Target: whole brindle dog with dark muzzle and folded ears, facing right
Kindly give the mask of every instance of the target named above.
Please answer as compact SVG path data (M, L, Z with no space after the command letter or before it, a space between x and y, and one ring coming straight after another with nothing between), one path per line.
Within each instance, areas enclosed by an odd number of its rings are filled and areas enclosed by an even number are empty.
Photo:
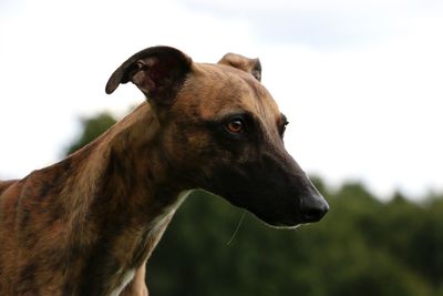
M285 150L257 64L168 47L125 61L106 92L131 81L147 102L63 161L0 182L0 295L147 295L145 263L192 188L274 226L319 221L328 204Z

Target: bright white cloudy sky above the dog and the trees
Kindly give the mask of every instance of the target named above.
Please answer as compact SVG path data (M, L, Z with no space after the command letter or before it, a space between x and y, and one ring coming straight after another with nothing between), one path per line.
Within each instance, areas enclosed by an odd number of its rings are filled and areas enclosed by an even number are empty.
M131 85L111 96L104 85L157 44L200 62L259 57L289 152L329 184L443 190L439 0L2 0L0 177L59 160L80 118L142 102Z

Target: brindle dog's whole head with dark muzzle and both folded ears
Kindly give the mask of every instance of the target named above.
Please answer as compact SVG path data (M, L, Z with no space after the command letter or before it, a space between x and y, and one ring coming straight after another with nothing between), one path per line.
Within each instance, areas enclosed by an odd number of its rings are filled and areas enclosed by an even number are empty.
M288 121L258 81L261 67L244 67L258 60L229 57L236 62L204 64L148 48L112 74L106 92L131 81L146 95L165 159L187 188L220 195L274 226L319 221L329 206L285 150Z

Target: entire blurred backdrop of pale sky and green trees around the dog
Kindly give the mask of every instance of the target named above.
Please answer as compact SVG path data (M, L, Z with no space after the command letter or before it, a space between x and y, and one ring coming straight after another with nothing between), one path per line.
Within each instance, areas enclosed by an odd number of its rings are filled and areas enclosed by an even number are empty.
M141 49L259 57L286 146L331 211L276 231L196 192L150 262L152 295L443 295L442 32L437 0L1 0L0 178L142 102L104 93Z

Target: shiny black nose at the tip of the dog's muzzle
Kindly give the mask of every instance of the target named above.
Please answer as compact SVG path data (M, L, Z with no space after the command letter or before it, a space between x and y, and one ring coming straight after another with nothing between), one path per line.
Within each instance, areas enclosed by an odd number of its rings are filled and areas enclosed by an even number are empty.
M303 196L300 201L300 213L303 223L318 222L328 211L328 202L319 193Z

